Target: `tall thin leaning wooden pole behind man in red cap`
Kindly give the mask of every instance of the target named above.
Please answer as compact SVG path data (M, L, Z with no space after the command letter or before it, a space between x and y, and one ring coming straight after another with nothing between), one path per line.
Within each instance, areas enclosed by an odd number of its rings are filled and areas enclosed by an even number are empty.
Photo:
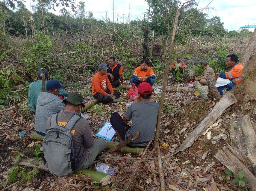
M157 127L156 127L156 134L155 134L155 139L154 139L154 150L156 150L157 145L158 145L158 140L159 140L159 130L160 130L160 123L161 123L161 117L162 117L162 111L163 111L163 103L164 103L164 97L165 97L165 91L166 91L166 84L168 80L168 75L169 75L169 70L171 68L171 56L172 56L172 49L174 47L174 38L175 38L175 33L176 33L176 27L178 24L178 18L179 18L180 12L177 10L176 15L175 15L175 20L173 23L173 28L172 28L172 40L169 42L169 53L166 59L166 68L165 68L165 74L163 78L163 88L162 88L162 93L160 97L160 103L159 103L159 108L158 108L158 114L157 114Z

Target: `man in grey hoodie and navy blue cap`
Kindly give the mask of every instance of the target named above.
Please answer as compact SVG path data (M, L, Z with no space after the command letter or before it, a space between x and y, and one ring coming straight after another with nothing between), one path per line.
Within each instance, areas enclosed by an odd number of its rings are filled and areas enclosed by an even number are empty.
M58 80L51 79L46 83L46 91L40 92L37 99L37 109L35 118L35 130L38 134L45 136L46 122L48 117L65 109L64 103L58 93L61 86Z

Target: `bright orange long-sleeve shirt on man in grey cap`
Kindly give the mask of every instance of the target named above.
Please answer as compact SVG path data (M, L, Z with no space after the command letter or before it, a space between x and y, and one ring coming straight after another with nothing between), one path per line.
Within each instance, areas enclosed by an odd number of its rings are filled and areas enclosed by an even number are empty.
M96 93L107 95L105 92L106 87L108 87L111 93L114 92L107 75L101 75L99 72L95 74L92 79L93 95Z

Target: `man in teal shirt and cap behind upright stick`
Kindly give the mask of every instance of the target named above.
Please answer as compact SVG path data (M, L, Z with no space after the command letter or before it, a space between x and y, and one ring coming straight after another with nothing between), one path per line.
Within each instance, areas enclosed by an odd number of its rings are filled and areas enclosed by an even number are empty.
M44 74L45 79L47 78L47 76L48 76L48 72L45 69L45 74ZM46 87L46 82L47 81L45 81L45 87ZM37 105L37 98L38 98L39 92L42 92L42 68L37 70L37 81L32 82L28 88L28 106L32 113L35 113L35 109L36 109L35 106ZM58 96L61 99L64 99L64 97L67 97L68 94L63 90L60 90L58 93Z

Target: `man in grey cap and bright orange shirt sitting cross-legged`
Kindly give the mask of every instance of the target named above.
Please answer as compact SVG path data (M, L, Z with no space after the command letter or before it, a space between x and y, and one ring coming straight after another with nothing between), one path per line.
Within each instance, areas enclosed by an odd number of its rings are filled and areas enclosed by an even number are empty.
M120 102L123 100L119 98L121 93L113 90L107 77L107 69L106 64L102 63L99 65L99 72L93 76L93 97L102 103ZM106 87L108 87L108 89Z

